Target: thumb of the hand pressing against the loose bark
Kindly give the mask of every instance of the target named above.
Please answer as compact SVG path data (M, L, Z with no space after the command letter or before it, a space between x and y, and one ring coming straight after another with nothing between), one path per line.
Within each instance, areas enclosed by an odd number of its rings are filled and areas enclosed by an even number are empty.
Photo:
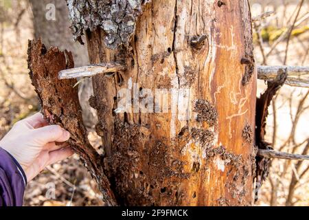
M43 145L49 142L65 142L70 137L70 133L58 125L49 125L34 129L32 135L34 140Z

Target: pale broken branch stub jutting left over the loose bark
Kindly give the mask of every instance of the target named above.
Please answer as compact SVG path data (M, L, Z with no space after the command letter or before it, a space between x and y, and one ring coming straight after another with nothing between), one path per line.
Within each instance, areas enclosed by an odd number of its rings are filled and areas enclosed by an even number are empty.
M97 74L110 74L124 70L126 70L126 66L121 63L100 63L85 67L62 70L59 72L58 78L62 80L69 78L91 77Z

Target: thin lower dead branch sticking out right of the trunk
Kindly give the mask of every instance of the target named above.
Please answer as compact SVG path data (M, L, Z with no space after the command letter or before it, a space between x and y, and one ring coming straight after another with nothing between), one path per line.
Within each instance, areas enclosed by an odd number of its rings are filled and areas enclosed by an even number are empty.
M267 150L267 149L259 149L258 155L260 157L266 157L266 158L309 160L309 155L285 153L285 152Z

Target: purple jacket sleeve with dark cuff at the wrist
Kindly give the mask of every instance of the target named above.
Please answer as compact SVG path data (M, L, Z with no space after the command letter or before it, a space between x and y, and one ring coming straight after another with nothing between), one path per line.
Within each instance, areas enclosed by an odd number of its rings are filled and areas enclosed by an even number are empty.
M26 184L23 168L0 147L0 206L23 206Z

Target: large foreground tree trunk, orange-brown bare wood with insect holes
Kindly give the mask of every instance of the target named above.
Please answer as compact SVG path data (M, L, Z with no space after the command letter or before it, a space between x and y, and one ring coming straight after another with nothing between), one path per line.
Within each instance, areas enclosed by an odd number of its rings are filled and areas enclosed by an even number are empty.
M119 204L251 205L256 72L248 2L153 0L128 45L108 49L106 28L86 35L91 63L127 66L94 76L91 98ZM122 111L124 89L132 106Z

